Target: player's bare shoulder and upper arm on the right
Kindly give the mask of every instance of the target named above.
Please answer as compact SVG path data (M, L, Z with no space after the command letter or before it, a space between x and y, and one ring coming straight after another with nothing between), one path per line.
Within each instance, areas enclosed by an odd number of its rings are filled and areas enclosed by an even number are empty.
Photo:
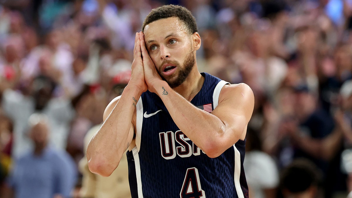
M252 89L245 83L225 85L221 89L219 105L212 114L225 125L225 139L230 145L244 139L253 109L254 95Z

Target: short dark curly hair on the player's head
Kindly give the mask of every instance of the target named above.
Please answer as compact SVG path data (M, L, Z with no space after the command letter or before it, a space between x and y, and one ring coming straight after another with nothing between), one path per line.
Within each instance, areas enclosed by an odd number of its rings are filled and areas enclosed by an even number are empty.
M193 34L194 32L198 32L196 19L194 18L192 13L183 6L171 5L171 4L152 9L152 11L150 11L150 13L146 16L143 22L142 31L144 31L144 28L146 25L154 21L157 21L159 19L165 19L170 17L177 17L178 19L183 21L183 23L186 25L187 30L190 34Z

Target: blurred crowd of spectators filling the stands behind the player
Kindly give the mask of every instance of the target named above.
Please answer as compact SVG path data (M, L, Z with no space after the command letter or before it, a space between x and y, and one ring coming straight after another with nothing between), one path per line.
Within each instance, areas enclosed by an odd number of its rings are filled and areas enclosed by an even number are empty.
M41 141L73 159L70 196L94 197L80 193L87 140L131 77L144 17L164 4L194 14L201 72L253 89L251 197L352 191L352 0L0 2L0 181L15 193L26 185L14 184L16 164L41 145L31 135L40 122L29 122L39 113L49 133Z

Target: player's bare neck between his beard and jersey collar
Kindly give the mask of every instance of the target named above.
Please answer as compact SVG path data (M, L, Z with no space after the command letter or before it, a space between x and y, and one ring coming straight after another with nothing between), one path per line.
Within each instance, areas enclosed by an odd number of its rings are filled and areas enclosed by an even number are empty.
M174 90L182 95L186 100L191 101L200 91L204 83L204 77L199 73L197 65L195 65L187 77L187 79Z

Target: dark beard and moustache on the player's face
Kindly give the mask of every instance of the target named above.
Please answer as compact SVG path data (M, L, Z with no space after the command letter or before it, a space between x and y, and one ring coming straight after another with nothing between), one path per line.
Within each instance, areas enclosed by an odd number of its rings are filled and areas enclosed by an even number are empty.
M183 61L183 67L181 68L180 67L180 63L178 63L177 61L163 61L163 63L160 65L159 67L159 75L161 76L161 78L166 81L169 86L171 88L175 88L175 87L178 87L180 86L186 79L187 77L189 76L189 74L191 73L193 67L194 67L194 64L195 64L196 60L195 60L195 57L194 57L194 53L193 51L191 50L188 54L188 56L186 57L186 59ZM173 78L174 76L176 76L176 79L174 80L167 80L164 78L164 76L162 75L162 66L166 63L171 63L171 64L174 64L178 69L178 74L176 73L173 73L171 75L169 75L168 77Z

